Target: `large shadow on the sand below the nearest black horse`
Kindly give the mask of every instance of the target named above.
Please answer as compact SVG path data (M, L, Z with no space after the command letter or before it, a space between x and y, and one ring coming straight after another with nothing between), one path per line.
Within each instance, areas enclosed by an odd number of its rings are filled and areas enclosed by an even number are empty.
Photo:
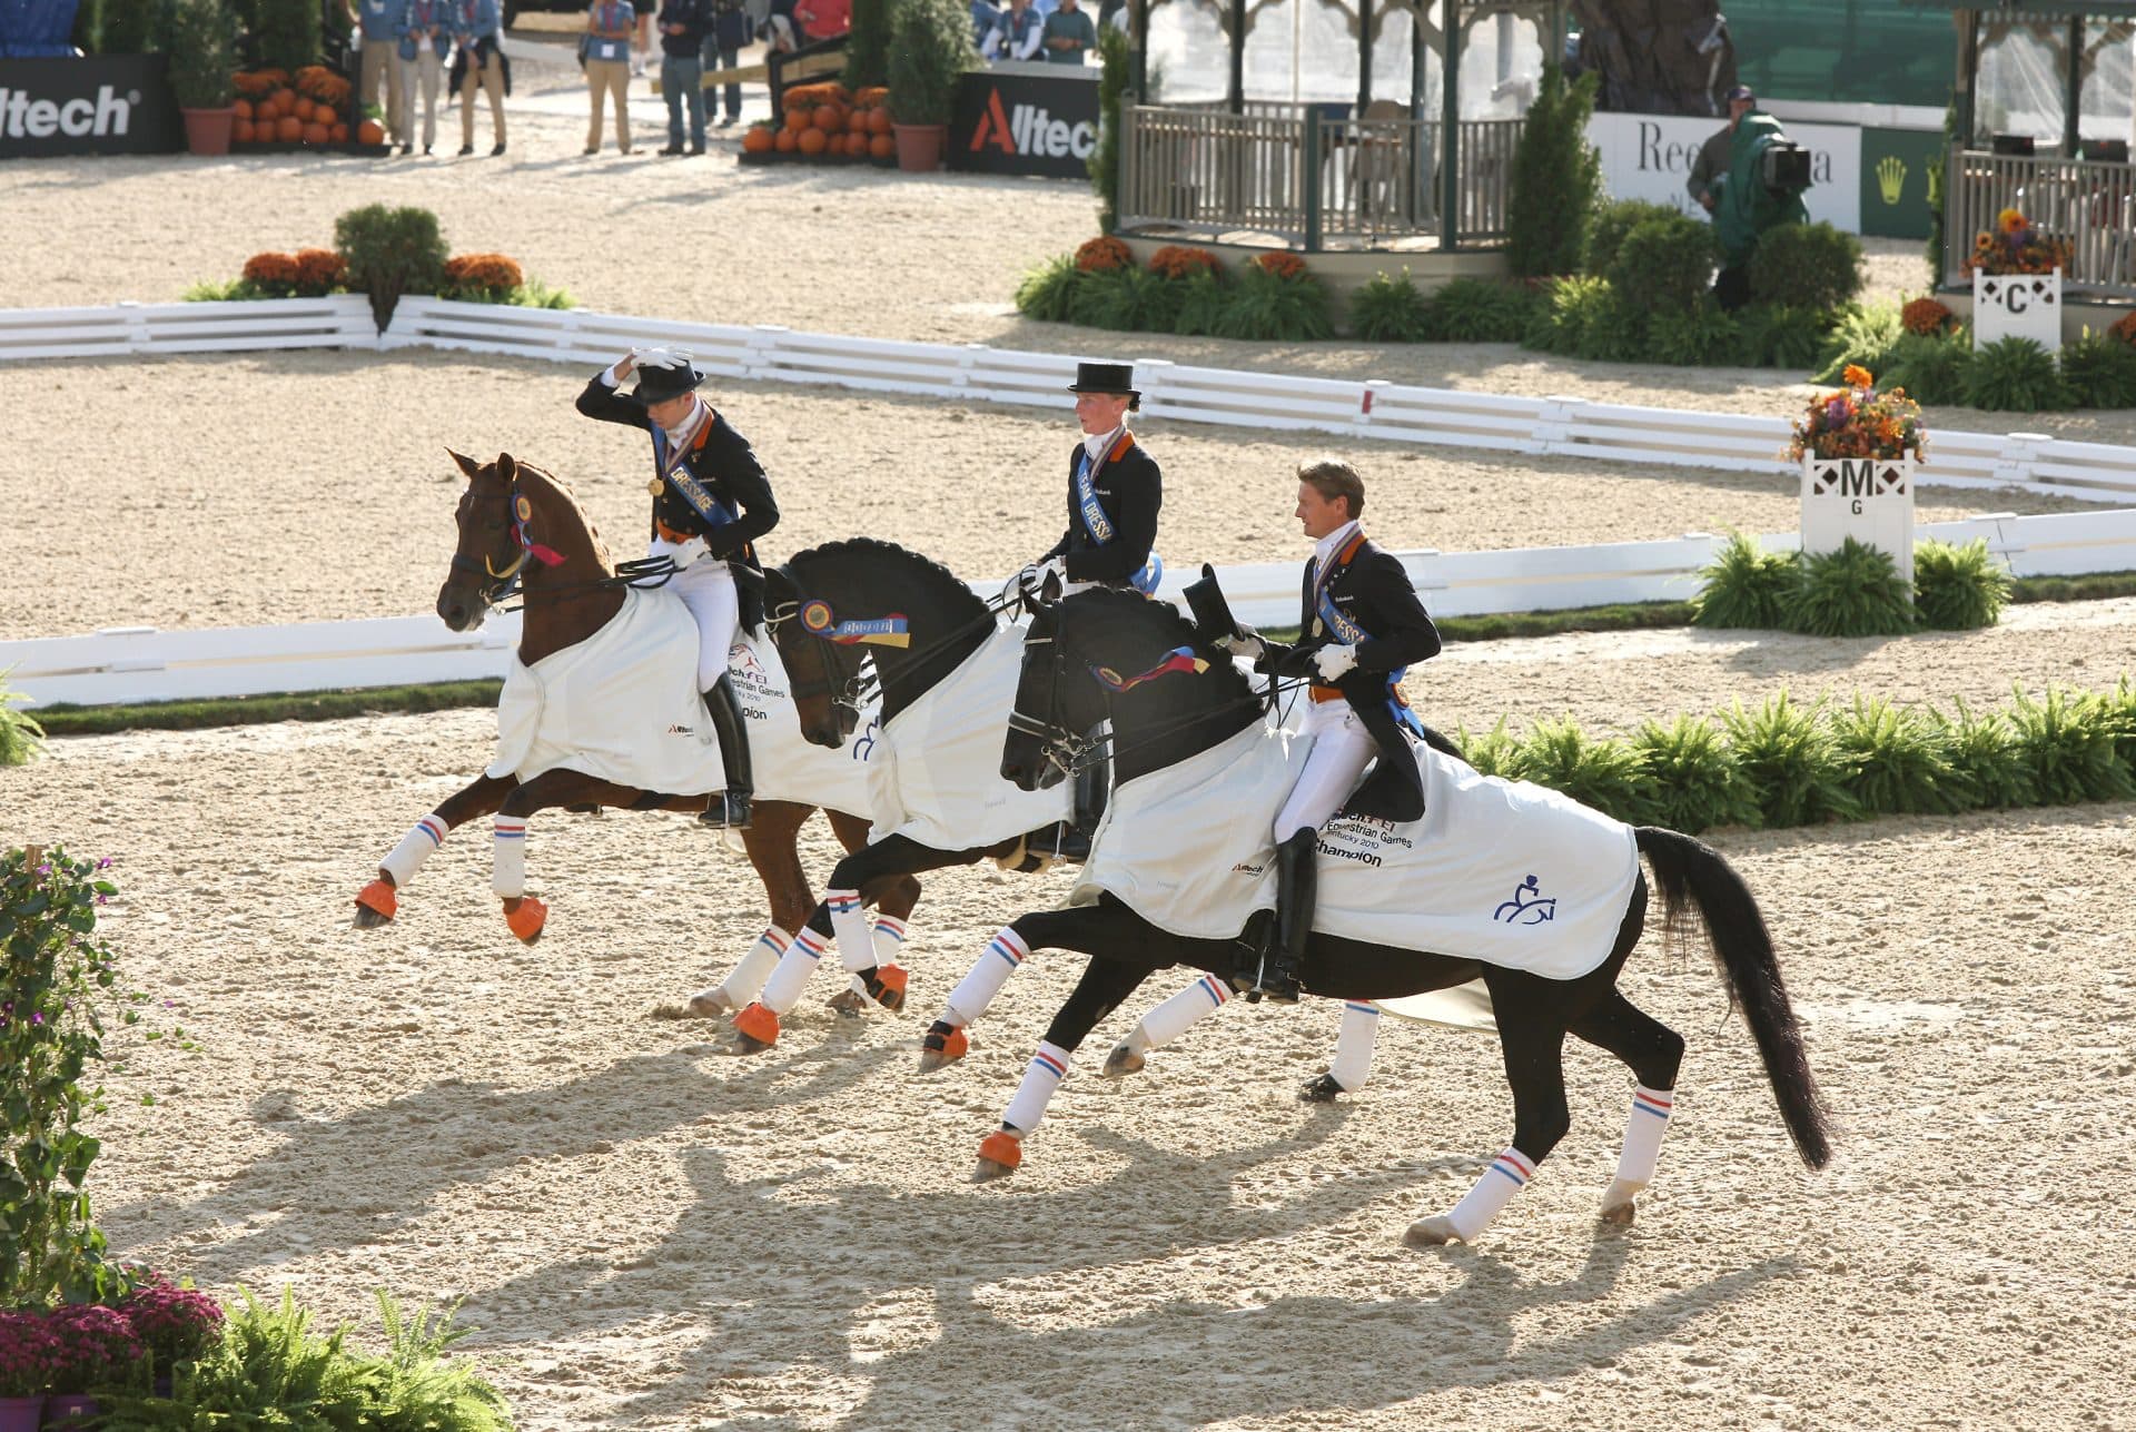
M1241 1176L1309 1152L1346 1118L1318 1109L1301 1129L1209 1156L1104 1126L1059 1131L1051 1137L1081 1137L1121 1167L1096 1184L1055 1188L972 1188L961 1163L944 1165L925 1193L752 1180L703 1146L684 1156L698 1197L660 1246L624 1265L551 1263L470 1297L464 1317L513 1329L521 1347L604 1344L647 1321L673 1329L675 1314L701 1319L692 1347L662 1349L651 1370L662 1381L604 1415L611 1426L724 1417L765 1430L820 1426L820 1406L795 1406L778 1391L797 1374L818 1391L865 1385L839 1417L850 1426L965 1421L974 1398L991 1419L1017 1423L1200 1426L1282 1406L1380 1406L1444 1387L1570 1376L1670 1340L1792 1267L1764 1261L1672 1291L1636 1317L1549 1338L1514 1329L1529 1310L1608 1297L1636 1233L1598 1235L1576 1276L1544 1282L1523 1282L1512 1265L1474 1250L1403 1250L1393 1225L1361 1235L1386 1240L1386 1259L1459 1265L1465 1282L1438 1297L1226 1306L1166 1295L1134 1272L1151 1261L1177 1276L1181 1261L1241 1242L1282 1259L1297 1246L1290 1235L1474 1169L1465 1156L1344 1169L1271 1205L1235 1205ZM1331 1280L1358 1276L1354 1265L1331 1270ZM1034 1329L1004 1314L1004 1285L1070 1310L1072 1325ZM1109 1314L1106 1304L1126 1310ZM564 1381L583 1383L585 1372L572 1368ZM643 1376L632 1368L632 1381ZM540 1413L538 1394L525 1402Z

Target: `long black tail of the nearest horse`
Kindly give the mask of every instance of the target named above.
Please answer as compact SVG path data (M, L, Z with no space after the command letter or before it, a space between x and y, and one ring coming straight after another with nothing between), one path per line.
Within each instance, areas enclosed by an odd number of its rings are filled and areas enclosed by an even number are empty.
M1664 934L1681 934L1692 906L1698 908L1713 962L1728 981L1728 1009L1743 1007L1788 1135L1803 1163L1822 1169L1833 1161L1833 1118L1809 1073L1803 1028L1794 1022L1758 902L1734 866L1702 840L1658 825L1640 825L1636 836L1662 891Z

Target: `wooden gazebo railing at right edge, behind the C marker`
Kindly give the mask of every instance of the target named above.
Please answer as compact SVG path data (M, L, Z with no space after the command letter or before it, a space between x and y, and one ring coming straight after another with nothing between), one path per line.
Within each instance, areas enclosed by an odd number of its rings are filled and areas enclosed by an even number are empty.
M2070 239L2061 282L2136 297L2136 165L1952 150L1946 169L1944 280L1965 282L1976 233L2001 209Z

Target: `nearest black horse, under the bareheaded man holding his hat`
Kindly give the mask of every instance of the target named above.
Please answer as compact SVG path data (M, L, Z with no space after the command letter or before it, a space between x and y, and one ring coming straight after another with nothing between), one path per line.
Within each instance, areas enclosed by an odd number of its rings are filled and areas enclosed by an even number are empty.
M1175 660L1175 654L1188 652L1198 663ZM1162 675L1121 682L1119 673L1128 671ZM1262 701L1247 680L1173 607L1119 592L1081 592L1034 613L1002 774L1025 789L1059 782L1085 754L1087 742L1079 733L1111 720L1115 789L1126 793L1138 776L1205 752L1262 718ZM1831 1120L1756 900L1717 851L1690 836L1640 827L1636 844L1653 868L1664 928L1677 934L1694 908L1702 917L1730 1007L1741 1002L1745 1009L1788 1133L1809 1167L1824 1167L1831 1161ZM1683 1039L1617 990L1617 972L1645 928L1645 908L1647 883L1634 876L1613 949L1576 979L1314 934L1305 962L1309 994L1399 998L1478 975L1491 992L1514 1101L1512 1146L1459 1208L1414 1223L1408 1242L1472 1240L1566 1135L1570 1114L1561 1054L1568 1032L1608 1049L1638 1077L1625 1158L1602 1208L1613 1223L1634 1216L1634 1195L1653 1176L1660 1129L1683 1060ZM1010 930L1027 949L1074 949L1091 962L1047 1030L1051 1049L1040 1047L1025 1088L1010 1105L1021 1122L1006 1120L980 1146L980 1178L1015 1169L1023 1135L1066 1073L1066 1054L1143 979L1168 964L1190 964L1218 977L1239 966L1235 940L1166 934L1111 893L1081 908L1023 915Z

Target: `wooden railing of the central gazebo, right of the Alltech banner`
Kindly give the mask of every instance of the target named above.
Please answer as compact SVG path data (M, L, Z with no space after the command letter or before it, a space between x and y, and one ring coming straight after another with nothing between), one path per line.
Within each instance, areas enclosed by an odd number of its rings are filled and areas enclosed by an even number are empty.
M1440 124L1322 105L1121 107L1121 229L1265 233L1316 250L1442 233ZM1519 120L1461 124L1459 242L1506 237Z

